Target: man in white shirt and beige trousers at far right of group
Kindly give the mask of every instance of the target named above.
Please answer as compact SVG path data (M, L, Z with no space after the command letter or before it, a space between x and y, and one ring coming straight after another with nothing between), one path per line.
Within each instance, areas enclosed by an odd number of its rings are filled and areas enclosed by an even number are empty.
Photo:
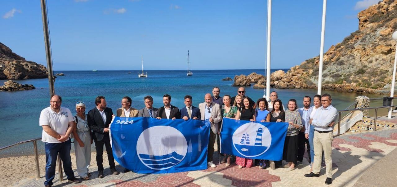
M338 111L331 105L331 95L323 94L321 96L322 106L317 109L316 114L310 124L314 126L314 162L313 171L305 177L320 176L321 158L324 151L326 165L326 184L332 183L332 141L333 141L333 125L331 124L337 117Z

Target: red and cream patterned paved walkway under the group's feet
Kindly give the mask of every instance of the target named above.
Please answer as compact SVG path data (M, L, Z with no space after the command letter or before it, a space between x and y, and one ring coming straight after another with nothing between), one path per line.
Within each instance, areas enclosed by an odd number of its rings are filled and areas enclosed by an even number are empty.
M364 171L375 162L383 158L397 147L397 129L342 135L333 140L333 183L329 186L353 186ZM291 172L284 168L261 170L258 167L239 169L232 164L217 164L217 168L207 170L182 172L174 174L135 174L132 172L119 175L109 175L109 168L105 169L105 177L100 179L97 168L92 167L91 179L82 183L71 185L67 181L60 182L58 175L54 179L54 186L326 186L324 181L325 168L320 172L320 177L304 177L309 172L305 155L303 166L296 167ZM394 166L395 164L393 164ZM122 168L118 166L118 170ZM380 172L387 172L382 171ZM75 172L77 176L77 172ZM23 179L13 186L42 186L44 177ZM376 180L382 180L377 178Z

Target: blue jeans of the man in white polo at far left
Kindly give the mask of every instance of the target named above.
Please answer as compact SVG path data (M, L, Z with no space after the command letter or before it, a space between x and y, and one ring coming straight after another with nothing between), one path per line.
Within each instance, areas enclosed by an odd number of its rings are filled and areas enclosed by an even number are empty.
M72 162L70 158L71 141L62 143L46 143L44 142L44 148L46 150L46 181L44 185L52 185L52 180L55 177L55 164L59 153L61 160L64 165L64 172L67 179L75 179L74 172L72 170Z

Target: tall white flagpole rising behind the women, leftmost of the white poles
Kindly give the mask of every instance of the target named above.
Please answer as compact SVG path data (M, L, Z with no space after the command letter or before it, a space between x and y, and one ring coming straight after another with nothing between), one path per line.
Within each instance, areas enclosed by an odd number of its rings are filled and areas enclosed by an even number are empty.
M267 101L270 101L270 36L272 33L272 0L268 0L268 19L267 19L267 47L266 47L266 98Z

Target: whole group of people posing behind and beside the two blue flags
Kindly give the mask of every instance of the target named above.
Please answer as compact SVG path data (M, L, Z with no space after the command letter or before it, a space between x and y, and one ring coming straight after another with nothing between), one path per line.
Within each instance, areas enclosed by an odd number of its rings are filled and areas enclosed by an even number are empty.
M303 98L303 108L297 108L297 101L290 99L287 109L278 99L276 92L270 93L270 101L265 98L259 98L254 102L250 97L245 95L245 88L240 87L237 95L220 96L220 89L214 87L212 94L207 93L204 96L204 102L193 106L192 96L184 97L184 104L180 110L171 104L171 96L163 96L164 106L160 108L153 107L152 96L143 98L145 107L137 110L131 107L132 100L125 96L121 99L121 108L117 109L118 117L148 117L157 119L183 119L183 120L209 120L211 123L210 137L208 143L208 166L216 168L213 162L214 145L218 136L218 150L220 150L220 137L222 130L220 124L223 118L235 120L260 121L260 122L287 122L287 136L285 138L282 158L288 164L285 165L287 171L292 171L295 166L302 164L305 145L309 154L309 163L311 166L310 174L306 177L318 177L322 162L322 154L326 162L326 184L331 184L331 144L333 121L336 118L337 110L331 105L331 96L324 94L315 95L313 98L314 106L310 106L312 100L310 96ZM104 177L103 167L103 148L106 148L111 174L118 175L116 170L112 147L110 146L109 125L114 116L112 109L106 107L104 96L95 98L96 107L85 114L85 104L82 101L76 103L77 114L73 116L68 108L61 107L62 98L59 95L51 97L50 106L41 111L39 124L42 126L42 141L45 144L46 152L46 181L44 185L52 186L52 180L55 175L56 158L59 153L63 162L64 171L67 179L72 183L80 181L74 176L71 169L71 140L69 136L73 135L74 147L76 153L77 173L83 180L90 179L89 165L91 162L91 144L95 143L96 164L98 166L98 177ZM258 108L257 108L258 107ZM221 151L222 152L222 151ZM232 155L222 154L221 163L226 166L231 164ZM256 162L255 162L256 161ZM235 163L239 168L250 168L255 164L260 168L279 168L282 165L281 160L252 160L235 156ZM127 168L124 172L129 172Z

